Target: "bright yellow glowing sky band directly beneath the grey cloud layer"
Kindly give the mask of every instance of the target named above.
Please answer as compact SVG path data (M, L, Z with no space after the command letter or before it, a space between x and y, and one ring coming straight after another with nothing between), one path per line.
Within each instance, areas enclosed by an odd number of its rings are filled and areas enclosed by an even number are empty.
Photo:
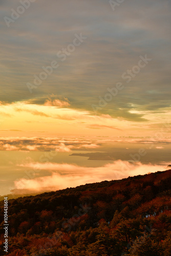
M160 119L159 113L152 115L150 112L145 112L144 117L147 121L142 125L141 122L116 119L110 115L95 115L90 111L75 110L67 99L59 100L55 97L48 98L42 105L26 102L3 103L0 105L0 114L1 112L4 113L4 119L0 130L5 137L13 137L14 134L18 137L39 136L40 131L45 133L44 137L52 137L56 134L151 136L154 134L154 129L158 132L162 129L164 136L171 132L167 121L171 111L162 113ZM150 120L151 116L153 116L152 120Z

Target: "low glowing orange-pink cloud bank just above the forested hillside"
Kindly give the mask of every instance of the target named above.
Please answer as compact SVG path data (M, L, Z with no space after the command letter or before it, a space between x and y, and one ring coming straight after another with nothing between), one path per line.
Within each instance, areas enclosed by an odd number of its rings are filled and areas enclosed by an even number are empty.
M115 161L111 164L105 164L101 167L83 167L74 164L57 164L57 163L27 163L20 166L30 167L33 170L49 170L52 172L50 176L26 179L22 178L15 181L15 189L13 193L41 193L43 191L51 191L63 189L67 187L75 187L80 184L101 182L104 180L118 180L135 175L144 175L149 172L154 173L164 170L165 165L152 164L131 164L126 161Z

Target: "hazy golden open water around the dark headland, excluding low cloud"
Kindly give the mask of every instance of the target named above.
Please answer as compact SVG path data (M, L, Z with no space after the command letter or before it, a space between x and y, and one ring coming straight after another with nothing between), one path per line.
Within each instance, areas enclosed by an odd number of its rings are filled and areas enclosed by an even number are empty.
M118 147L117 147L118 145ZM131 156L137 157L139 154L139 149L143 147L143 144L134 144L127 143L124 147L123 144L115 144L114 147L103 148L101 152L112 152L115 156L115 160L121 159L122 161L134 161ZM163 144L162 149L157 148L158 145L155 145L154 148L145 149L146 154L140 157L140 161L143 164L158 164L158 165L167 165L171 163L170 157L170 145ZM145 148L145 147L144 147ZM100 150L99 150L100 151ZM98 148L92 151L70 151L70 152L58 152L54 157L50 156L49 162L51 163L67 163L67 164L76 164L78 166L85 167L100 167L106 163L113 163L111 160L88 160L89 157L83 156L70 156L71 154L86 154L86 153L95 153L99 152ZM9 194L11 189L14 189L14 181L21 179L26 176L26 172L32 170L31 167L22 167L26 163L44 163L41 160L45 161L47 159L46 154L49 152L21 152L21 151L0 151L0 195ZM53 154L54 155L54 154ZM138 158L137 158L138 159ZM165 168L165 169L166 169ZM36 177L45 177L49 176L50 172L48 170L40 170Z

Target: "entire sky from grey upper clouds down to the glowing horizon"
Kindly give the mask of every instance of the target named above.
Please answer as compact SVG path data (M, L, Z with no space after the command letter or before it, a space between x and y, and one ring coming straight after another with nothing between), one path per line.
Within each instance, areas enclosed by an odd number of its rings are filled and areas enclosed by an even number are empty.
M169 161L170 9L170 0L2 0L0 150L155 143Z

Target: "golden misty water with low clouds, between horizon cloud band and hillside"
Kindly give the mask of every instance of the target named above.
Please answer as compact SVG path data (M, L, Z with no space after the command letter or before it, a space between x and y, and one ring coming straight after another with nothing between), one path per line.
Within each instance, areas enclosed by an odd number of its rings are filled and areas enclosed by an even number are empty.
M87 151L0 151L0 195L41 193L167 169L169 144L118 143ZM73 155L74 154L74 155ZM76 156L75 156L76 154ZM91 160L90 160L91 159ZM21 185L22 184L22 185Z

